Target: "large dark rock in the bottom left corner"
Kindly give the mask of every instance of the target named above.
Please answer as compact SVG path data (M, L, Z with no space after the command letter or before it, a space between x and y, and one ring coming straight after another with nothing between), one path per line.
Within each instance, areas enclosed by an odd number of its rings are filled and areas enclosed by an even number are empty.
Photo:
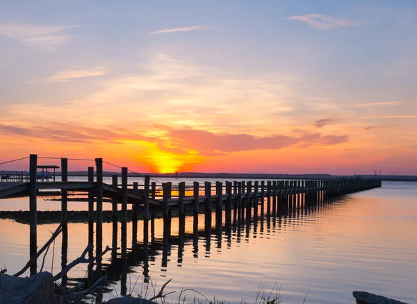
M0 303L55 303L54 278L49 272L40 272L29 278L0 274Z

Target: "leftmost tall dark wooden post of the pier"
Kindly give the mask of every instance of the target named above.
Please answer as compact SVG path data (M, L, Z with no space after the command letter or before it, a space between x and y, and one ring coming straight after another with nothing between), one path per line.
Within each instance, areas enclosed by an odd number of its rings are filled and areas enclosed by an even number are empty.
M29 210L30 210L30 217L29 217L29 255L33 257L36 255L37 252L37 242L38 242L38 233L37 233L37 225L38 225L38 217L37 217L37 206L36 206L36 196L37 196L37 167L38 167L38 155L31 154L29 156ZM36 262L31 266L31 276L37 273L37 264Z

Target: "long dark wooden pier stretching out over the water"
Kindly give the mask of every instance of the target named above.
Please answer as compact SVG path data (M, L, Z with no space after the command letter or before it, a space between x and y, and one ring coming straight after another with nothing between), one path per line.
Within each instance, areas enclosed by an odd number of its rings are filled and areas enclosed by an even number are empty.
M185 210L193 210L193 226L198 233L199 213L204 212L204 221L207 229L211 229L211 216L215 210L216 230L222 231L224 225L241 222L246 219L257 220L258 217L281 217L286 212L291 212L301 205L311 206L320 203L323 199L338 197L352 192L381 187L381 180L365 180L361 178L338 178L334 180L261 180L261 181L217 181L192 185L181 182L177 186L172 183L157 185L149 176L145 176L144 185L128 183L128 169L122 167L122 185L117 185L117 176L113 176L112 184L103 182L103 160L95 159L95 168L88 167L88 181L68 181L68 159L61 159L60 182L40 182L37 176L38 155L30 155L29 179L27 183L19 183L0 189L0 198L13 195L29 196L30 211L30 257L37 251L37 195L40 189L61 190L61 221L63 225L63 251L67 246L67 192L83 192L88 194L88 226L92 230L96 223L96 255L101 256L102 223L103 223L103 199L111 199L113 205L113 223L117 227L120 221L122 226L122 248L126 248L126 221L128 204L132 205L133 212L133 235L137 236L138 213L143 212L144 246L148 246L149 221L151 223L151 235L154 235L154 220L156 210L163 214L163 235L170 235L172 210L177 209L179 214L180 230L184 225ZM131 188L130 188L131 187ZM161 195L162 194L162 195ZM162 196L162 197L161 197ZM158 199L157 199L158 197ZM160 199L161 197L161 199ZM94 204L96 205L96 217L93 217ZM122 205L121 217L117 217L117 205ZM261 210L259 212L259 205ZM223 212L225 212L223 221ZM233 217L232 217L233 214ZM117 232L116 232L117 235ZM93 244L92 235L88 243ZM124 240L124 242L123 242ZM113 246L114 247L114 246ZM116 245L117 247L117 245ZM114 249L114 248L113 248ZM91 253L92 254L92 253ZM122 260L126 260L126 250L122 250ZM97 259L97 270L101 272L101 259ZM63 267L66 260L63 259ZM31 275L37 273L37 266L31 267Z

